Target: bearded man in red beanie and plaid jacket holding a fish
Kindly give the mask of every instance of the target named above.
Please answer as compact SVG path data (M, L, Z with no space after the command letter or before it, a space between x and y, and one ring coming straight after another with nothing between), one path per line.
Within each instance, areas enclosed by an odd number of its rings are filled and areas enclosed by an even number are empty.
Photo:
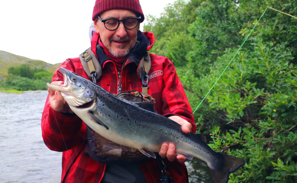
M97 85L111 93L141 91L138 76L140 61L154 44L154 35L139 31L144 15L139 0L96 0L92 20L96 33L91 50L102 67ZM156 99L155 109L182 126L184 133L195 132L196 126L189 102L170 60L149 54L148 94ZM79 58L61 64L85 78L88 75ZM62 84L63 75L56 71L52 84ZM86 125L69 109L59 91L48 89L42 114L42 137L47 147L63 152L61 182L160 182L158 160L141 163L104 164L93 160L86 149ZM159 150L173 182L187 182L186 158L176 156L174 144L164 142Z

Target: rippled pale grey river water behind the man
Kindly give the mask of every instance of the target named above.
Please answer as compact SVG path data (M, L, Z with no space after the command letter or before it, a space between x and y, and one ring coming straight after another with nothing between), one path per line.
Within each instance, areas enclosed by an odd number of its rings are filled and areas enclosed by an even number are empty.
M41 115L48 91L0 93L0 182L61 181L62 153L48 149L42 139ZM189 181L213 182L204 162L186 162Z

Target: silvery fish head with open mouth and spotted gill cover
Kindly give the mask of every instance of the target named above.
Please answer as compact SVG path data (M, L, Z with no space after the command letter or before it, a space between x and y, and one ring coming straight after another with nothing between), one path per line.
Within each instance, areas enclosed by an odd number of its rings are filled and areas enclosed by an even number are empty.
M62 97L70 107L82 106L94 99L94 91L86 85L83 77L62 67L58 70L64 76L64 84L55 85L47 83L46 85L50 89L60 91Z

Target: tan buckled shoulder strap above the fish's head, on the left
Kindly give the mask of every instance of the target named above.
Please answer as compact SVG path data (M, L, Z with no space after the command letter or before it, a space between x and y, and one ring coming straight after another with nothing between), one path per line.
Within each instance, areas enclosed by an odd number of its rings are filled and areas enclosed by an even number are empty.
M83 66L83 70L96 84L97 79L99 79L102 75L102 68L96 55L92 52L91 47L80 54L79 59L81 65Z

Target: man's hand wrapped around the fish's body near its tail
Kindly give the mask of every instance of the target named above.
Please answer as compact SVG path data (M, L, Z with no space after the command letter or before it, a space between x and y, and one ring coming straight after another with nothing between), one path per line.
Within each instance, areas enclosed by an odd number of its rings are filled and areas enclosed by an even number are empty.
M177 122L178 124L181 125L181 130L188 134L190 133L191 129L192 129L192 124L189 123L187 120L184 120L183 118L179 117L179 116L170 116L168 117L169 119ZM175 158L179 161L179 162L185 162L187 160L186 157L184 157L183 155L178 155L176 157L175 154L175 145L174 144L168 144L168 143L163 143L160 151L159 151L159 155L162 158L167 157L167 159L169 161L173 161L175 160Z

